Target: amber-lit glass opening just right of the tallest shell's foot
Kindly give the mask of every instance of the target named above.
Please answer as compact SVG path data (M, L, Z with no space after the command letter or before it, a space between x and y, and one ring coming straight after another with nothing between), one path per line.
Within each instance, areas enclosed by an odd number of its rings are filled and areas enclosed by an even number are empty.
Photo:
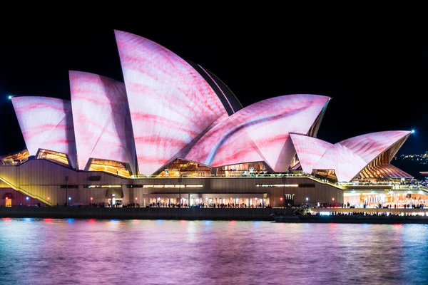
M179 158L168 165L168 167L166 167L158 177L178 177L180 175L193 177L209 176L211 175L211 167Z

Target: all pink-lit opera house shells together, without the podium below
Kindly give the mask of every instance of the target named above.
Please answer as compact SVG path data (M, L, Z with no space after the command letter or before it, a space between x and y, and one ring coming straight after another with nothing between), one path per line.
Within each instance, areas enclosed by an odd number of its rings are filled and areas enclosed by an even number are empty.
M407 131L331 144L316 138L329 97L282 95L243 108L202 66L141 36L115 35L123 83L70 71L71 100L11 98L26 155L122 178L293 171L335 182L411 177L389 164Z

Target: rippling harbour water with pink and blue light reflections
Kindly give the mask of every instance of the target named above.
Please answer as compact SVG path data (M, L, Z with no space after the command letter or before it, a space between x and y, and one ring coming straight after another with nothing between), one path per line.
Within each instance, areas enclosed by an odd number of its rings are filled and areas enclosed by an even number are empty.
M0 219L0 284L428 284L428 225Z

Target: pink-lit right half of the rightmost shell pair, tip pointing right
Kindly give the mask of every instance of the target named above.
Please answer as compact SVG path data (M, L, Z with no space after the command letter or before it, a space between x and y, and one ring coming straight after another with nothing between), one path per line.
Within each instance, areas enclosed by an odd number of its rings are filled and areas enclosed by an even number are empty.
M410 132L407 130L385 131L359 135L355 138L342 140L339 143L350 148L355 154L359 155L362 160L369 163L395 142L409 135Z

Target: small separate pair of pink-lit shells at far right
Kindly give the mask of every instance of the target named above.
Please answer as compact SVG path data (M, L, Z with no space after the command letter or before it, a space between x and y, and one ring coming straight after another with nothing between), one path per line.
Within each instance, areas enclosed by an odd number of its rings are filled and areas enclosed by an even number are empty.
M339 182L350 182L372 160L396 143L404 142L409 134L409 131L402 130L370 133L335 145L302 135L291 134L291 137L305 173L335 170Z

